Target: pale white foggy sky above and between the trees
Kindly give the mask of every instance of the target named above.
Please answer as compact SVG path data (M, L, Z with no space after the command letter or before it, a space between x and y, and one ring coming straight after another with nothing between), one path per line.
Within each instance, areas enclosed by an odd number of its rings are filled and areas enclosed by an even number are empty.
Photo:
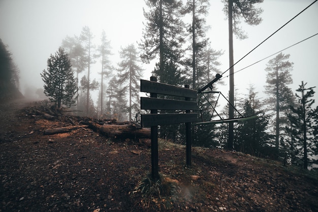
M241 25L247 32L248 39L234 41L234 61L238 61L251 49L265 40L271 33L293 18L314 0L265 0L260 4L264 9L263 22L258 26ZM222 72L228 69L228 21L222 12L220 0L210 1L210 14L207 22L211 29L207 32L212 48L225 50L219 58ZM47 59L54 54L66 36L79 36L82 27L87 25L92 30L95 43L99 43L101 32L105 29L111 41L113 65L118 61L120 47L136 44L142 37L143 0L0 0L0 39L9 46L14 61L21 71L21 90L27 85L43 87L40 73L47 68ZM239 62L234 70L239 70L263 59L281 49L293 45L315 33L318 33L318 2L298 16L290 24L277 32L266 43ZM283 51L290 54L289 61L294 62L291 73L295 90L301 81L307 87L318 86L318 36L295 47ZM274 57L274 56L273 56ZM264 96L266 82L266 63L268 58L256 65L242 70L234 76L235 86L245 93L248 85L256 86L259 96ZM153 67L144 64L144 79L149 79ZM100 71L99 60L91 69L92 75ZM228 76L227 72L224 77ZM100 81L99 76L96 76ZM227 95L228 78L223 79L226 87L220 90ZM318 88L315 99L318 99ZM23 92L23 91L22 91ZM97 99L95 99L97 100Z

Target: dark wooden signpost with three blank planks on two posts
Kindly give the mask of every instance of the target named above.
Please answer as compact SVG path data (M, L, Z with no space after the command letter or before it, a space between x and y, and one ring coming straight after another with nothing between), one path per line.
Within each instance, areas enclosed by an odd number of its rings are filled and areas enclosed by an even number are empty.
M191 122L198 121L197 91L156 82L155 77L150 81L140 80L140 91L150 93L149 97L141 97L141 110L150 110L150 114L141 115L141 125L151 127L151 177L159 179L158 170L158 125L185 123L186 164L191 165ZM157 98L157 94L183 97L184 100ZM178 113L158 113L158 110L173 110ZM182 111L181 113L179 113Z

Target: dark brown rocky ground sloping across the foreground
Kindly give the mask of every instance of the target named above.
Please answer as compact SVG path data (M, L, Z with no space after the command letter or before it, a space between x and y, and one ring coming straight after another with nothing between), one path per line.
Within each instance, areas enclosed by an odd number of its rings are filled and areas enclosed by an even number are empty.
M137 189L151 169L147 140L114 140L87 128L28 116L35 102L0 104L0 211L318 211L318 181L279 162L160 141L169 196ZM297 170L297 169L293 169Z

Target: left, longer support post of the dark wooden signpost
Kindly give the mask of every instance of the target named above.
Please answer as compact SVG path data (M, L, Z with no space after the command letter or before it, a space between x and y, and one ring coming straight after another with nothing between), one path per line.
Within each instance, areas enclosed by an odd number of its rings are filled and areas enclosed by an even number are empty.
M150 81L157 82L156 77L150 77ZM151 98L157 98L156 93L150 93ZM157 114L158 110L150 110L150 114ZM158 165L158 126L151 126L151 178L159 179Z

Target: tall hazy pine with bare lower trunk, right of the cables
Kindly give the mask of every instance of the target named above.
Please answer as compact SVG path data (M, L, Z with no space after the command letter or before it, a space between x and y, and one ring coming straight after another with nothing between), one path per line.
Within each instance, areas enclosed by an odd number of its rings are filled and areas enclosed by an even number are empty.
M290 72L293 70L293 63L289 62L290 55L278 54L275 58L269 60L266 71L266 83L265 93L269 94L267 99L270 105L270 110L276 113L275 118L275 148L276 155L279 155L279 140L280 133L283 124L282 117L285 112L289 109L289 105L293 104L293 92L288 87L289 84L293 83ZM285 123L286 124L286 123Z

